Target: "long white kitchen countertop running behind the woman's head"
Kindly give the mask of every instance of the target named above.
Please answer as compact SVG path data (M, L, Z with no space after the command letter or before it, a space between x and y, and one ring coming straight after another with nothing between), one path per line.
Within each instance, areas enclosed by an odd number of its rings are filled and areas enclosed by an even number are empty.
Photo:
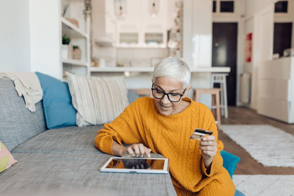
M153 72L154 67L90 67L91 72ZM230 67L191 68L193 73L229 73Z

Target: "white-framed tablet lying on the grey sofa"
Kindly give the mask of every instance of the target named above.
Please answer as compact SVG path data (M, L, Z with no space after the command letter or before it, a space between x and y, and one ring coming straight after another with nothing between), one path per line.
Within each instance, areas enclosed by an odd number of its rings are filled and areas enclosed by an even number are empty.
M169 160L166 158L111 157L99 171L166 174L168 169Z

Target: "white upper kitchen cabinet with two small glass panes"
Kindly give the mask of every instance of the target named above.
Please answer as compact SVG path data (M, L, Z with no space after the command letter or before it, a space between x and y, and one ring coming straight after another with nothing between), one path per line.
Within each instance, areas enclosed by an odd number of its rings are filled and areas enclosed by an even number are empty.
M152 17L149 12L150 2L126 0L126 16L116 20L117 47L166 48L168 1L159 1L159 12L155 17ZM106 7L106 13L110 12Z

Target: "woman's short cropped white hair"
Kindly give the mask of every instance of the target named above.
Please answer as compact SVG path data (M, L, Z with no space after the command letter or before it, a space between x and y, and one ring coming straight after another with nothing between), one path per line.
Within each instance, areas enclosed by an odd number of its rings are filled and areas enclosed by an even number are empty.
M168 57L161 60L154 68L153 83L158 77L175 78L182 82L183 87L187 88L191 78L191 70L188 64L180 58Z

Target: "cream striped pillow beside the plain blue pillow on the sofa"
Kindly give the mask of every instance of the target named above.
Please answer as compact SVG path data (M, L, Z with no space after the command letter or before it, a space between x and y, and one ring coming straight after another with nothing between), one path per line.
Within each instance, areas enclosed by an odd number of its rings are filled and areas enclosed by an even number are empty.
M79 127L110 123L128 105L123 76L88 77L67 73Z

